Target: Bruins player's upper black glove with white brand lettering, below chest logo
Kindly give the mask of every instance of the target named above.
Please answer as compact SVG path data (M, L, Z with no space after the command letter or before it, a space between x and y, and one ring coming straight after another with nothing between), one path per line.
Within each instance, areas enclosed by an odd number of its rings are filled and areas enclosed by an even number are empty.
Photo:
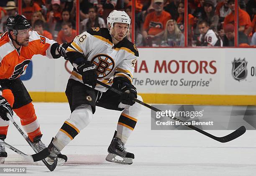
M92 89L95 88L97 84L97 73L94 64L91 61L86 61L79 66L77 66L77 71L82 74L82 79L84 84L92 86Z

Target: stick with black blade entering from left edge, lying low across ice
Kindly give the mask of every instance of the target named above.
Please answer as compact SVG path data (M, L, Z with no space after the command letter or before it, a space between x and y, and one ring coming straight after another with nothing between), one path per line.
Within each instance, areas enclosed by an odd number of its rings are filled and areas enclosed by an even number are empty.
M17 148L13 147L12 145L6 143L3 140L0 140L0 143L2 143L2 145L5 145L5 147L13 150L15 153L18 153L19 155L23 156L23 158L25 158L27 161L36 162L36 161L40 161L40 160L46 158L47 156L49 156L49 150L42 150L39 153L36 153L33 155L27 155L27 154L23 153L22 151L18 150Z

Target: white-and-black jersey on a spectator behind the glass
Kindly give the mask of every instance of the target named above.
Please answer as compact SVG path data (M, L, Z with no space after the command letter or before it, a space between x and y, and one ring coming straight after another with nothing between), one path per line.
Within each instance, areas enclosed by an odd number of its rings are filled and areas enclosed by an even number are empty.
M209 29L205 35L200 34L199 41L201 46L223 46L223 42L212 29Z

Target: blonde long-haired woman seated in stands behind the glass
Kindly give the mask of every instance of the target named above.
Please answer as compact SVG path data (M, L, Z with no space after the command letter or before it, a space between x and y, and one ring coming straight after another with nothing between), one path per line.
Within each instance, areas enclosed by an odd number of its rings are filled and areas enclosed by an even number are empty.
M162 41L168 46L184 46L184 35L175 20L168 20Z

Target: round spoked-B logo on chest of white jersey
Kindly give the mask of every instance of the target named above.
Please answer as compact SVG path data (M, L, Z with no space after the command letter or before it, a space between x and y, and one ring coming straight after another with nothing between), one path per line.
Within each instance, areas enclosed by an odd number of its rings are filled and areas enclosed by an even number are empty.
M106 54L98 54L92 58L92 63L96 65L96 71L99 79L102 79L114 69L114 60Z

